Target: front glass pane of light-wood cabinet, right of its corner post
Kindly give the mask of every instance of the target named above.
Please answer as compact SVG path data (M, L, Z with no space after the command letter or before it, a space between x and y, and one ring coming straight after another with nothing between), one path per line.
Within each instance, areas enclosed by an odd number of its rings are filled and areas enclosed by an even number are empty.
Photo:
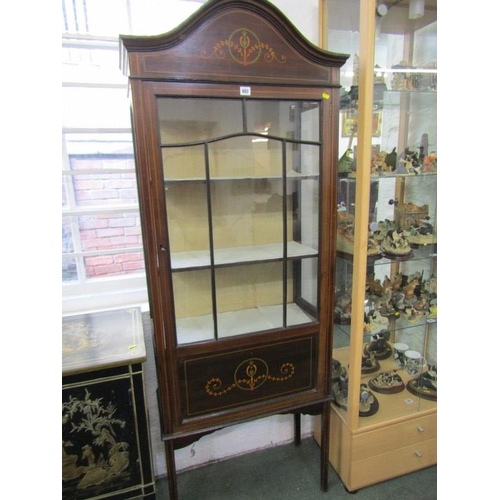
M372 193L384 258L368 277L367 298L374 300L367 327L388 334L388 366L398 370L411 394L390 412L381 408L381 419L435 408L437 400L436 10L427 6L425 18L405 30L411 21L406 7L400 9L404 22L395 23L397 11L390 9L376 40L374 102L382 116L372 143L379 148L376 163L389 165L390 172L377 167L373 173L392 178L380 179L378 193ZM379 284L388 298L374 293Z

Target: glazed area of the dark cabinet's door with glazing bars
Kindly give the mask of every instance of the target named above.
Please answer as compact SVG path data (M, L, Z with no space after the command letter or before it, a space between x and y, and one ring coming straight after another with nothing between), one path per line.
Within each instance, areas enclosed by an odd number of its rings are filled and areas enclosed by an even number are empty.
M177 344L317 322L320 105L157 99Z

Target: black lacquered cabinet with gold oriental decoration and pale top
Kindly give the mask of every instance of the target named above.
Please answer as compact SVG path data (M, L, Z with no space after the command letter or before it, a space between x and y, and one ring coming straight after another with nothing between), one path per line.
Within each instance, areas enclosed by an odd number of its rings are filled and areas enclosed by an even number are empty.
M63 316L62 498L154 500L140 308Z

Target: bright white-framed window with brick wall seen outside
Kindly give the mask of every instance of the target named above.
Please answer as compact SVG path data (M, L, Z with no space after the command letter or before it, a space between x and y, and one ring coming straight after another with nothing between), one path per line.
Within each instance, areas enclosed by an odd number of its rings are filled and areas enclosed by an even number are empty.
M118 36L169 31L203 1L62 1L63 313L147 301Z

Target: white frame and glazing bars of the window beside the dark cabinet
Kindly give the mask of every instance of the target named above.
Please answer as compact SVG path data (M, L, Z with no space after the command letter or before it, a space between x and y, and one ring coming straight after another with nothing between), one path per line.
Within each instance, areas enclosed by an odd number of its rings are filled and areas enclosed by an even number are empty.
M186 7L183 10L194 11L199 6L204 3L205 0L182 0L179 3L181 6L184 3L192 3L192 7ZM197 5L198 4L198 5ZM66 7L66 10L65 10ZM68 7L70 8L68 10ZM95 7L95 6L94 6ZM127 92L128 89L128 78L119 72L119 33L113 33L112 36L107 34L96 35L92 33L92 15L95 11L92 5L87 5L86 0L82 0L77 3L65 3L63 2L63 26L62 26L62 49L63 51L71 51L71 49L76 49L74 54L68 52L67 60L64 60L63 53L63 78L62 87L63 90L66 88L76 88L76 89L103 89L103 90L123 90ZM128 26L127 29L131 33L135 30L133 26L134 14L139 14L141 12L141 7L138 3L124 2L124 8L126 13L124 13L125 24ZM165 8L160 6L159 8ZM90 10L88 10L90 9ZM93 14L92 14L92 12ZM68 18L68 16L70 16ZM89 17L90 16L90 17ZM144 22L143 19L139 20L139 24ZM177 24L177 23L175 23ZM122 28L123 29L123 28ZM153 33L156 34L156 33ZM84 51L88 51L85 53ZM111 71L107 71L108 66L106 66L106 60L94 59L92 58L92 51L112 51L116 54L116 72L114 68L110 67ZM104 56L106 58L106 55ZM100 64L101 63L101 64ZM84 68L80 71L80 64L88 64L89 71ZM66 67L65 67L66 65ZM71 66L73 66L73 69ZM68 69L67 72L64 69ZM103 70L103 71L101 71ZM85 104L85 103L84 103ZM103 112L103 117L105 117L105 112ZM123 118L123 117L122 117ZM113 121L113 119L112 119ZM123 121L123 120L122 120ZM131 272L129 275L116 275L109 277L87 277L85 269L85 258L91 256L100 255L116 255L116 254L126 254L126 253L138 253L140 252L144 261L144 251L142 240L140 246L130 247L130 248L118 248L109 250L92 250L85 251L82 246L79 245L80 236L80 226L78 224L77 218L80 215L92 215L92 214L113 214L113 213L132 213L136 212L141 217L139 201L135 200L131 204L120 204L120 205L96 205L95 207L78 207L72 186L72 178L76 175L84 174L103 174L103 173L133 173L136 175L135 166L130 169L82 169L82 170L71 170L70 166L70 154L68 153L66 147L66 139L68 134L107 134L107 133L127 133L132 137L131 121L127 123L128 126L116 127L116 126L103 126L103 127L92 127L87 126L89 123L78 123L77 120L71 119L70 124L64 123L62 127L62 183L63 189L66 192L66 206L63 204L61 215L62 221L66 217L71 217L70 227L71 227L71 238L73 245L75 247L71 252L62 253L62 258L74 258L77 263L77 281L67 281L62 282L62 309L63 313L69 314L74 312L86 311L89 309L102 309L110 307L123 307L127 305L140 304L143 308L147 308L148 303L148 290L147 290L147 280L145 269L140 271ZM133 148L132 159L135 164L135 155ZM137 179L136 179L137 181ZM142 227L141 227L142 229ZM76 242L76 243L75 243ZM64 250L64 249L63 249ZM62 265L62 263L61 263Z

